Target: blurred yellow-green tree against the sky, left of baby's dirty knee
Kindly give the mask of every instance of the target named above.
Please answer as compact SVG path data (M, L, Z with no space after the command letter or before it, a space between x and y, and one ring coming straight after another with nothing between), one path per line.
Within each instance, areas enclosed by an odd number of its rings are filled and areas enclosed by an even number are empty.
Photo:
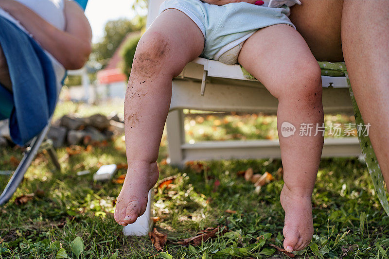
M105 66L105 60L113 55L125 35L130 32L141 30L144 25L144 17L136 17L132 21L127 19L108 21L106 23L103 39L99 43L93 45L93 52L90 56L90 60Z

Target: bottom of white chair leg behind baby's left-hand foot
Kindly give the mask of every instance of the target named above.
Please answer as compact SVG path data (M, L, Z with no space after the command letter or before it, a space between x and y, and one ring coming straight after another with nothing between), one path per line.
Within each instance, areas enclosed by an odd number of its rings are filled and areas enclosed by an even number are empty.
M154 189L149 191L146 211L133 224L126 225L123 228L124 236L147 236L153 227L151 219L151 206L154 202Z

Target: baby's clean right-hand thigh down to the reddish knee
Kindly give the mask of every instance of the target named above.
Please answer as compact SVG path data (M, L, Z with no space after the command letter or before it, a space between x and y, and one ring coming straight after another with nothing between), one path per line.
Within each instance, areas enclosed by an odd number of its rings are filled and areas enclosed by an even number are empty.
M272 25L255 32L243 44L238 62L279 100L285 97L298 101L299 106L321 101L318 62L289 25Z

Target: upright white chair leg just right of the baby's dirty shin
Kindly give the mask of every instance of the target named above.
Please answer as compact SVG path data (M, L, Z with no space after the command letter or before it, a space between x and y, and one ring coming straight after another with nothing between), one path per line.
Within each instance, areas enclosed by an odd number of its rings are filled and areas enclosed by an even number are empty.
M184 113L182 110L169 112L166 120L170 164L182 168L184 154L181 145L185 143Z

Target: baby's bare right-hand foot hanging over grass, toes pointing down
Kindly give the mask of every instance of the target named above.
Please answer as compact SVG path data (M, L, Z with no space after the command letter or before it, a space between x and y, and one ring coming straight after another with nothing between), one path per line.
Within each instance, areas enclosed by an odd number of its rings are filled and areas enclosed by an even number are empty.
M309 244L313 235L311 195L293 192L283 185L281 205L285 211L283 247L288 252L302 250Z

